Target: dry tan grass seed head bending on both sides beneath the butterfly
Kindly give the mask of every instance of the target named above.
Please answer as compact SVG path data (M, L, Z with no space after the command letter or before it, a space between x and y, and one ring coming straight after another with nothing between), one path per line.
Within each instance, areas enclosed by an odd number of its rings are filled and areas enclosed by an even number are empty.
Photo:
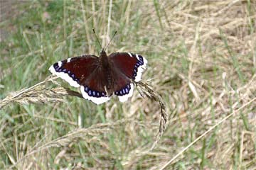
M28 103L48 103L53 101L63 101L63 96L76 96L82 98L82 95L77 91L72 91L68 88L64 88L62 86L58 86L55 88L48 88L46 84L48 81L53 81L53 83L58 84L55 82L57 77L47 77L44 81L29 87L28 89L21 89L20 91L16 91L10 93L6 98L0 101L0 109L10 103L19 103L19 104L28 104ZM156 137L156 141L152 145L151 149L153 149L157 142L161 139L161 136L164 133L166 128L167 122L167 115L166 115L166 106L159 94L157 94L148 84L139 81L135 82L134 84L137 85L141 94L151 98L154 101L159 102L161 108L161 118L160 118L160 125L159 125L159 134Z

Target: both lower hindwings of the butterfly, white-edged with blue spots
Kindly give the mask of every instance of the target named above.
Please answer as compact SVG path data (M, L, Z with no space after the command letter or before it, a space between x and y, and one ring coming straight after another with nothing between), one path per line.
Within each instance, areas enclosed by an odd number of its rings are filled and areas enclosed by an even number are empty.
M97 67L86 81L81 82L81 92L84 98L97 104L110 100L112 94L118 96L119 101L124 102L132 96L133 84L115 67L110 67L107 75Z

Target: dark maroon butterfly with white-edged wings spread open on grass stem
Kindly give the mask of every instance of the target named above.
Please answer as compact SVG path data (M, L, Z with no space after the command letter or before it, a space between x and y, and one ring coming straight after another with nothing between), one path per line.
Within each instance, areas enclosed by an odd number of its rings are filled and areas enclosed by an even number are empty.
M95 30L93 32L95 33ZM95 36L97 38L96 34ZM99 40L98 42L100 43ZM70 86L80 87L83 98L101 104L110 100L113 94L118 96L119 101L127 101L134 90L132 81L141 80L146 63L146 59L141 55L114 52L107 56L102 48L100 57L95 55L72 57L56 62L49 70L68 81Z

